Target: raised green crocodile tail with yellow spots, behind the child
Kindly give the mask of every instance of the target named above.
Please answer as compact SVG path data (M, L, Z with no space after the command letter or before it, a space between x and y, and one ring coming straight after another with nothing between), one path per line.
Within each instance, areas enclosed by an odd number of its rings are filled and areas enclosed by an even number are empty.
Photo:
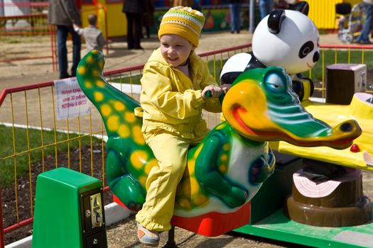
M77 67L79 86L101 114L109 137L141 139L142 135L131 137L141 133L139 128L142 125L142 118L134 115L134 109L140 104L104 79L104 62L102 52L88 52Z

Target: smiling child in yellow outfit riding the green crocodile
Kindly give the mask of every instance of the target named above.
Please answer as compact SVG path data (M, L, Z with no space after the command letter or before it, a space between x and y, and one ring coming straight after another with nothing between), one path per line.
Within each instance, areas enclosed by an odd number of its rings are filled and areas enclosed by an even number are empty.
M141 78L142 132L158 160L146 181L146 202L136 215L139 241L144 244L158 245L158 232L171 229L188 147L209 131L202 108L220 112L217 97L229 87L217 86L207 63L195 54L204 23L202 13L190 7L170 9L158 30L161 47L146 62ZM207 98L207 91L212 98Z

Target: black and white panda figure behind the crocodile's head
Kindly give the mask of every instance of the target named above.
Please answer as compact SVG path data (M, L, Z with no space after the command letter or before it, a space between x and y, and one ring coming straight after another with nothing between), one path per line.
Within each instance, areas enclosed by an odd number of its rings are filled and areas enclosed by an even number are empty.
M276 9L263 18L252 38L252 52L242 52L227 60L220 81L232 84L248 69L279 66L293 80L293 90L301 101L313 93L313 82L301 75L320 58L319 35L308 18L308 3L299 1L290 10Z

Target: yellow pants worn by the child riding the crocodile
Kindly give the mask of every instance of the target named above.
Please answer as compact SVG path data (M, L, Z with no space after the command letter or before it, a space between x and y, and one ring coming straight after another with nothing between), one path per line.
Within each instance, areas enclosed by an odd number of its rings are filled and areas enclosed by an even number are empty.
M188 148L202 137L188 140L171 133L144 134L146 143L158 160L146 180L146 201L136 220L148 230L158 232L171 229L176 186L187 163Z

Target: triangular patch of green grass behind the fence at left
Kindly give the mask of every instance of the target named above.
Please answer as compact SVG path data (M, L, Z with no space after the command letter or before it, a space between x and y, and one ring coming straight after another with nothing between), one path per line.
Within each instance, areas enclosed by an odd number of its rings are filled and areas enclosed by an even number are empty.
M15 142L13 142L13 131L12 128L8 128L4 125L0 125L0 133L1 133L1 142L0 142L0 184L1 186L9 186L14 181L14 161L15 159L11 156L13 151L13 144L15 143L16 152L24 152L28 151L28 147L30 150L35 149L37 147L41 147L42 145L42 134L40 130L33 130L29 129L28 134L25 128L15 128L14 129L14 137ZM27 142L27 137L29 137L29 142ZM75 147L79 147L79 140L81 141L81 145L90 145L90 137L78 137L77 134L69 134L70 137L70 151ZM74 139L75 138L75 139ZM56 142L62 142L57 146L53 145ZM28 174L28 164L29 161L31 164L38 164L43 159L43 152L44 157L55 156L55 150L57 147L57 152L67 152L67 145L68 142L63 142L67 140L67 133L60 133L56 132L56 135L53 131L45 131L43 130L43 145L46 146L42 150L36 149L30 152L19 154L16 156L16 171L17 177L20 178L21 176L25 176ZM92 139L94 145L101 144L101 140L97 138ZM29 144L28 144L29 143ZM52 145L51 145L52 144ZM30 160L28 157L30 156ZM4 159L4 157L9 157ZM41 163L40 163L41 164Z

